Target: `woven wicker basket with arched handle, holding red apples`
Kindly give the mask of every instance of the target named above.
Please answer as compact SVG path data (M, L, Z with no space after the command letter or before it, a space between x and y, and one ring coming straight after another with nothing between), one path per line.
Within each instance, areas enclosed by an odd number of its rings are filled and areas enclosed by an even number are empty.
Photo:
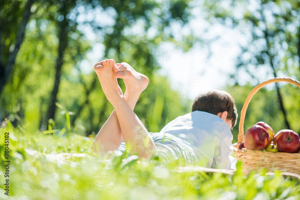
M238 146L244 141L244 120L250 100L260 88L274 82L289 82L300 88L300 82L290 77L270 79L253 88L241 110L241 118L238 125L238 142L233 144L230 149L235 154L236 160L242 161L243 172L245 174L265 168L268 172L280 170L282 172L293 172L300 175L300 154L283 152L272 153L260 150L238 149Z

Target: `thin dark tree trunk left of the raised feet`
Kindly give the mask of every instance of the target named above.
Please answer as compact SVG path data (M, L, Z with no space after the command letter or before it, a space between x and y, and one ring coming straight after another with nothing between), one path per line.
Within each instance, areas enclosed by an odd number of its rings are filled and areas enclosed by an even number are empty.
M46 123L48 123L49 119L54 119L54 114L55 114L55 110L56 110L56 106L55 106L55 102L57 100L56 96L58 93L58 87L59 87L59 83L60 83L60 76L61 76L61 67L64 63L63 60L63 54L64 51L68 45L68 37L67 37L67 32L66 29L68 27L68 22L66 19L66 15L67 15L67 10L65 8L62 8L63 10L63 14L64 14L64 19L62 22L58 23L58 27L61 28L61 32L59 35L59 45L58 45L58 58L56 59L55 62L55 80L54 80L54 86L53 86L53 90L51 92L51 96L50 96L50 105L48 108L48 112L46 115Z

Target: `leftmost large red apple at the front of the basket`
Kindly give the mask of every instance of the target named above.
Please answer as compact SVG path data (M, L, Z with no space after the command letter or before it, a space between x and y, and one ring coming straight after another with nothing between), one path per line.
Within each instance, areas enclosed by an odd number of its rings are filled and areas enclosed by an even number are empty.
M247 149L263 150L270 142L270 135L264 127L254 125L247 131L244 142Z

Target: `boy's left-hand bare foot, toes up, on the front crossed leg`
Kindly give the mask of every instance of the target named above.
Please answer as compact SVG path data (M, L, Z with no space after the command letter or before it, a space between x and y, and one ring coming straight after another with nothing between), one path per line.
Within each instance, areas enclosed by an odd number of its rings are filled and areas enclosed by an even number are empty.
M118 85L117 79L114 78L115 61L113 59L106 59L98 62L94 66L94 70L100 81L102 90L106 98L114 105L115 101L123 96L122 90Z

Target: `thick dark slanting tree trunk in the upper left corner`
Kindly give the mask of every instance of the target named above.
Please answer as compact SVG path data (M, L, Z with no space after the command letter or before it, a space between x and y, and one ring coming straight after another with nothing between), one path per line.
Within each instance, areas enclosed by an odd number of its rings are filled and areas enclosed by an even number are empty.
M5 86L6 82L8 81L11 71L13 70L13 64L15 63L17 53L18 53L20 46L24 40L26 25L29 21L30 15L31 15L30 9L34 2L35 2L34 0L27 1L26 7L24 8L24 11L23 11L22 22L20 24L20 28L17 33L15 49L13 50L13 52L11 52L8 55L6 64L4 64L2 58L0 58L0 94ZM1 24L1 27L3 28L2 24ZM1 56L2 56L2 54L1 54Z

